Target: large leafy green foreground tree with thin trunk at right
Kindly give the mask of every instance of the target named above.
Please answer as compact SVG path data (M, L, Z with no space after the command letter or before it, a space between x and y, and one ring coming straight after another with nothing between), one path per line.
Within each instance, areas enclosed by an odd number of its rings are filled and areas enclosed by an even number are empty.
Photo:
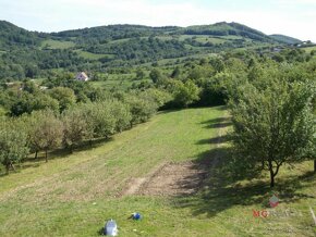
M248 84L230 103L235 154L248 171L268 170L270 187L282 164L315 158L315 86L281 78Z

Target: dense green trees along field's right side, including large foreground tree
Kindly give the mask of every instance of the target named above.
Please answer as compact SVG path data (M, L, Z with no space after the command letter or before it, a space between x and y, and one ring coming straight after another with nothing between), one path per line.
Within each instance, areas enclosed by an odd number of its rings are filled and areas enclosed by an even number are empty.
M169 105L228 104L234 128L232 157L240 173L268 171L274 187L284 164L314 160L316 172L315 60L293 57L280 63L241 53L191 62L169 77L159 70L149 76L157 87L172 92Z

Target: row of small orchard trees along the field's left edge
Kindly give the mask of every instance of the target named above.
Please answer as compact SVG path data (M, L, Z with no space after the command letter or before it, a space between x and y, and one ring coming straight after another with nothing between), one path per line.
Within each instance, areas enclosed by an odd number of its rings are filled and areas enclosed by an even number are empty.
M31 153L64 148L73 152L83 142L121 133L144 123L166 101L161 91L120 93L112 99L81 103L61 113L33 111L19 117L0 118L0 163L7 173Z

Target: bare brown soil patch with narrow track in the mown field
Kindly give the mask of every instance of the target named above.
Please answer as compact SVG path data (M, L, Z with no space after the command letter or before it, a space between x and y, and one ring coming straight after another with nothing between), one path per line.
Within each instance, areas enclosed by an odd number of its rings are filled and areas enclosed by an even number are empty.
M186 196L197 192L206 185L217 166L221 152L222 136L226 127L218 128L218 137L215 141L216 152L203 161L186 161L181 163L166 163L156 169L146 177L131 179L127 188L121 196Z

